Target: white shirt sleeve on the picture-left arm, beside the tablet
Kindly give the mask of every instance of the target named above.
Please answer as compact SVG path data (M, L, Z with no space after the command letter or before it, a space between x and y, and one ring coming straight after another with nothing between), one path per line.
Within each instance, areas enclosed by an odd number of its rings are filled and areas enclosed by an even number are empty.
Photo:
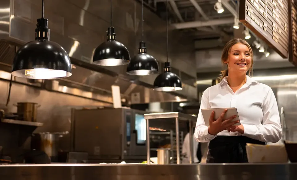
M207 88L201 97L201 104L200 104L200 109L198 113L195 132L194 132L194 138L196 139L196 141L201 143L209 142L210 140L216 137L208 133L208 126L205 125L205 122L201 113L201 109L209 109L209 108L210 108L209 88ZM206 119L206 121L208 122L208 119Z

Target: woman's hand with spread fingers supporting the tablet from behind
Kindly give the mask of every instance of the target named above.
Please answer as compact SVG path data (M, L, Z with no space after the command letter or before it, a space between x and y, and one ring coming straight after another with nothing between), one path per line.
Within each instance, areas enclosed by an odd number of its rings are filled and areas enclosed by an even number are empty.
M217 133L222 132L226 129L231 129L234 128L233 126L236 123L239 123L239 121L233 121L232 119L236 118L236 115L231 116L230 118L224 120L224 115L227 112L225 109L219 119L213 119L214 118L214 111L211 113L210 118L209 118L209 127L208 127L208 133L211 135L217 135Z

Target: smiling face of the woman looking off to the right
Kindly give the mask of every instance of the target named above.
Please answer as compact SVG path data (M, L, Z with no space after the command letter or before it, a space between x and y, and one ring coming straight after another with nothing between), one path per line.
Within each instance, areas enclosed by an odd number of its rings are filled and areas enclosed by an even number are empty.
M252 63L251 52L248 46L241 43L234 44L225 63L228 64L229 72L247 73Z

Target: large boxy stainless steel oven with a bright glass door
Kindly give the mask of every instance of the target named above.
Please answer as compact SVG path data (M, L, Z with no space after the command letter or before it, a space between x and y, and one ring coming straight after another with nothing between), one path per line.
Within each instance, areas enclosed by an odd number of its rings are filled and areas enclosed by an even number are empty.
M72 109L71 150L89 162L146 159L145 111L129 108Z

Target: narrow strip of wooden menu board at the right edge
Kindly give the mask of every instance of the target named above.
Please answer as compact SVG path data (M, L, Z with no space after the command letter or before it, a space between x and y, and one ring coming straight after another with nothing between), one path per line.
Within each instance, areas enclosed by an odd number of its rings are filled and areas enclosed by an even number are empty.
M288 1L289 9L289 61L297 66L297 1Z

